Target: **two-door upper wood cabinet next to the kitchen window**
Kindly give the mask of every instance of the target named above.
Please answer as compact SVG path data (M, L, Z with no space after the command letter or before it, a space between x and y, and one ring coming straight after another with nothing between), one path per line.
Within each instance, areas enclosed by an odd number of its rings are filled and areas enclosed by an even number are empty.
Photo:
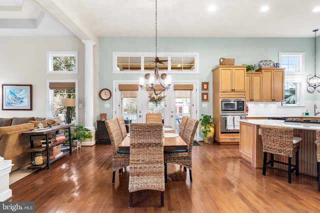
M259 68L262 73L262 101L284 101L284 69Z

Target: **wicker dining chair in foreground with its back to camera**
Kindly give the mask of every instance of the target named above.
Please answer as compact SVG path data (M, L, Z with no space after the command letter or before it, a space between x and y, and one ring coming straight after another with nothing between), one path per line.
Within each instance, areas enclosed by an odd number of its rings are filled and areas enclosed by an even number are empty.
M129 208L133 206L133 192L160 191L163 207L164 162L163 126L159 123L130 124Z

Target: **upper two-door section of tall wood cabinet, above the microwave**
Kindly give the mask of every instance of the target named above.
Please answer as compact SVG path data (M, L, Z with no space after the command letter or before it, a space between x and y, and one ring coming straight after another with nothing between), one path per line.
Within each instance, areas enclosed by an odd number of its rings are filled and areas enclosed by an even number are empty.
M217 66L212 72L213 83L219 84L220 92L245 92L246 66Z

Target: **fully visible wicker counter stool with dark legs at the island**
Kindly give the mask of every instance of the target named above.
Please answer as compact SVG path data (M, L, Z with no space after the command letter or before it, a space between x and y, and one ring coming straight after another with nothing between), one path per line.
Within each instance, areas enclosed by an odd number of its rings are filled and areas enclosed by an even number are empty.
M263 167L262 175L265 176L266 168L286 172L288 174L288 183L291 184L291 173L299 175L299 142L300 137L293 136L293 128L275 127L261 125ZM270 153L271 159L267 162L267 153ZM295 153L295 165L291 163L291 158ZM274 160L274 154L288 157L288 163ZM275 167L274 163L286 165L287 169Z

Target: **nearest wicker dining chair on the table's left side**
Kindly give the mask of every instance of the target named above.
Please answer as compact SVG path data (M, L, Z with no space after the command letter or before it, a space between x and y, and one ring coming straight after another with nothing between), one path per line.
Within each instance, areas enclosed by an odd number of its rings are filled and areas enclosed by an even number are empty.
M119 170L121 174L122 168L129 166L129 153L118 153L118 145L122 142L119 123L116 118L105 121L111 146L112 146L112 184L114 184L115 171Z

